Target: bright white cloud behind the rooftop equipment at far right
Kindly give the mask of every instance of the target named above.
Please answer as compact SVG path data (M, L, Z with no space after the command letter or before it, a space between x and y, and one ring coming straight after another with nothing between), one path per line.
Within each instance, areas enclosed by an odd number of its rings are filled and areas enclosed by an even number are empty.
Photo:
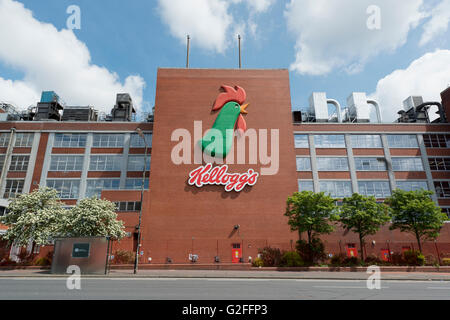
M392 122L398 118L397 112L409 96L441 101L440 93L450 85L449 74L450 50L436 50L413 61L406 69L395 70L378 81L371 98L380 103L383 121Z

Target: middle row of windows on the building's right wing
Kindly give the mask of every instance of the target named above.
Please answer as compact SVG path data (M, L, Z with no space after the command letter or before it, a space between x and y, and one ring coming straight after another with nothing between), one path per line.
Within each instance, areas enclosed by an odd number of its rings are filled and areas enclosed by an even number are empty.
M355 167L357 171L386 171L384 158L356 157ZM423 171L421 158L392 158L394 171ZM318 157L318 171L348 171L348 159L346 157ZM311 159L309 157L297 157L297 171L311 171Z

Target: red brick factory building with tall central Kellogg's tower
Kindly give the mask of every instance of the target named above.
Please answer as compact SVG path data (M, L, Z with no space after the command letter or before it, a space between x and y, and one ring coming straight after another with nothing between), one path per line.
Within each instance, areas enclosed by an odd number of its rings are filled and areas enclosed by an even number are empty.
M188 183L189 173L205 164L196 161L197 142L217 118L212 107L222 85L243 88L249 103L248 135L234 140L228 172L254 170L259 176L240 192ZM329 192L337 200L359 192L382 201L395 188L425 188L449 211L450 124L370 122L358 95L349 99L347 116L339 112L337 120L321 119L319 109L293 118L290 90L287 70L160 69L152 122L0 122L0 205L7 207L9 198L39 185L56 188L67 206L101 196L117 203L129 235L114 248L130 251L137 245L142 206L141 263L150 258L187 263L190 254L201 263L213 263L215 257L246 262L266 245L294 248L298 236L290 232L284 211L286 198L298 190ZM370 104L365 101L363 107ZM442 104L450 119L449 89ZM151 154L142 204L145 149L137 128L146 133ZM243 141L244 154L238 150ZM359 246L356 235L340 229L323 240L332 253ZM382 255L414 246L413 237L386 227L368 239L365 249ZM450 253L449 225L424 249Z

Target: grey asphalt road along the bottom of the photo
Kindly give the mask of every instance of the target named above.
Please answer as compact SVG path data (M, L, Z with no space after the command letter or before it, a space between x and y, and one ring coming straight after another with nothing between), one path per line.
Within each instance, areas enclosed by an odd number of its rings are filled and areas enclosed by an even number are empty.
M369 290L362 280L82 278L69 290L66 278L0 279L0 300L150 299L150 300L350 300L450 299L444 281L383 280Z

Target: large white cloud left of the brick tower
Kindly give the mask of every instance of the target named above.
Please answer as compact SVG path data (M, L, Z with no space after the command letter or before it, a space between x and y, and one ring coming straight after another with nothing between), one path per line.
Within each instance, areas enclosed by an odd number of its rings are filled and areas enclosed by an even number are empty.
M35 104L43 90L56 91L69 105L94 105L109 112L116 93L131 94L137 108L143 103L145 81L118 75L92 64L86 45L69 30L36 20L13 0L0 0L0 61L23 72L11 81L0 77L0 100L22 108Z

